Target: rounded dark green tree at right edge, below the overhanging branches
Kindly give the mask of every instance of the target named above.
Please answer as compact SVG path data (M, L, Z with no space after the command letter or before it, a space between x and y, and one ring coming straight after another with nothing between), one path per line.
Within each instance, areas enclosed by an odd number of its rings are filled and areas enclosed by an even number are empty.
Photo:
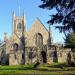
M65 45L66 47L71 48L71 49L75 48L75 34L74 33L68 34L66 36Z

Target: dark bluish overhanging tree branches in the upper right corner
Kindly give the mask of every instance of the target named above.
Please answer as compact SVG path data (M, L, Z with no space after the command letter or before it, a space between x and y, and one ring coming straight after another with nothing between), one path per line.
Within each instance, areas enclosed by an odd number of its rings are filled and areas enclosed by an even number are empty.
M51 15L48 21L50 25L55 23L62 23L62 26L56 26L60 32L75 33L75 0L41 0L43 2L40 8L47 8L49 10L56 8L57 13Z

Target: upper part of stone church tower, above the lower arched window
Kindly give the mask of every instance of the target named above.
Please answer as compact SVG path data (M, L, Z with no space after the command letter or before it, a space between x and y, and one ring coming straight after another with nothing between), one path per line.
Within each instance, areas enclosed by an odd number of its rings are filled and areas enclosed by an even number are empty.
M16 16L15 12L13 12L13 41L14 43L19 43L20 38L24 35L25 31L25 18L24 13L23 16Z

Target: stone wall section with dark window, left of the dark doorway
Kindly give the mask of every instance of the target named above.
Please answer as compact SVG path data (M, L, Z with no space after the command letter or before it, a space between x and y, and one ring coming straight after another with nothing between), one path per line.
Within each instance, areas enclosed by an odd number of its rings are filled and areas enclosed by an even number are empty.
M35 47L27 47L25 53L26 64L32 64L37 62L37 50Z

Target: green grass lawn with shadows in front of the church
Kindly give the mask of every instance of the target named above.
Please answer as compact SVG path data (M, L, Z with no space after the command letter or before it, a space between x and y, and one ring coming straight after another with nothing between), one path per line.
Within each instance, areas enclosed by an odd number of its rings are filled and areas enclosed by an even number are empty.
M75 67L65 64L40 64L37 69L32 65L0 66L0 74L26 74L26 75L75 75Z

